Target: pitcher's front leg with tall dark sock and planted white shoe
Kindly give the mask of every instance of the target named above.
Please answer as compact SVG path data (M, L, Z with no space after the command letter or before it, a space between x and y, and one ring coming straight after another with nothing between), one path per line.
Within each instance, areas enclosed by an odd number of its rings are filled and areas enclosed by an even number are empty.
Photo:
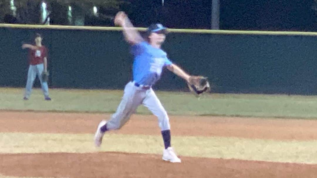
M181 160L176 156L171 147L171 126L167 112L165 111L158 97L155 95L153 89L149 89L147 91L146 97L143 100L143 105L158 117L159 127L161 128L165 147L165 150L163 151L163 160L173 163L180 163Z

